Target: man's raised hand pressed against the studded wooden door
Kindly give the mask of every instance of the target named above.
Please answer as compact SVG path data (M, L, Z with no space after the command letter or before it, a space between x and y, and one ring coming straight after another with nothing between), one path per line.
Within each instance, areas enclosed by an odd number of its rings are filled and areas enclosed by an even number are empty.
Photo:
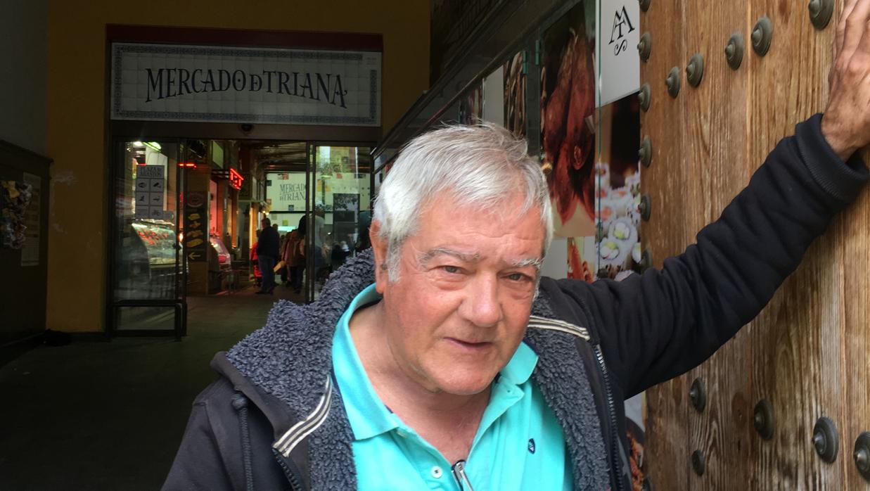
M847 0L833 41L821 132L846 160L870 143L870 0Z

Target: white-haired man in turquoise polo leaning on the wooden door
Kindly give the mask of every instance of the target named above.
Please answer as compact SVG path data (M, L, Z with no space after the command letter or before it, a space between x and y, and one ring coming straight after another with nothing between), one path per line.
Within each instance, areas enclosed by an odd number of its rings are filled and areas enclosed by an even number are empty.
M413 140L372 253L216 356L165 488L629 489L621 401L730 339L867 181L870 0L847 17L824 118L696 245L619 283L539 277L551 210L524 142Z

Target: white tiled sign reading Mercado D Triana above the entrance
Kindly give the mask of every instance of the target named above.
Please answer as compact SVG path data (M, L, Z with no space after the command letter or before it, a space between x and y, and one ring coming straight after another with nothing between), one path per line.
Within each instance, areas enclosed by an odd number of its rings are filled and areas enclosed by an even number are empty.
M381 54L112 44L111 118L380 125Z

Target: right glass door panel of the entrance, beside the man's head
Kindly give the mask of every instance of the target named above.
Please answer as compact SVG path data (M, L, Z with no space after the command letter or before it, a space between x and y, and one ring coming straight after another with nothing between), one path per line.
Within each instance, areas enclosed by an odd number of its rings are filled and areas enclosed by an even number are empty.
M368 249L371 148L310 145L305 287L317 299L331 272Z

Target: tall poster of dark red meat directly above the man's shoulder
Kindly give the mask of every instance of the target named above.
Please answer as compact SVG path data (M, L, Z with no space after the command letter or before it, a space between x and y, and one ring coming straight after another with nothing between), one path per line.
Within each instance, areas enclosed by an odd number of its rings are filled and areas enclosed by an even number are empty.
M595 245L594 20L578 3L540 39L540 158L553 232L568 238L568 277L592 281Z

